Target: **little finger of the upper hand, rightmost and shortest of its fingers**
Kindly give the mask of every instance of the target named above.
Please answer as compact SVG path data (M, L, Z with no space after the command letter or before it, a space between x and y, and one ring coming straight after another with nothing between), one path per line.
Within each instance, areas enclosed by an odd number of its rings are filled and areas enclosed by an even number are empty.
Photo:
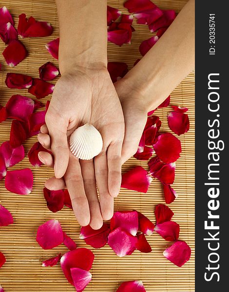
M121 151L122 142L110 144L107 150L108 189L112 197L117 197L121 186Z

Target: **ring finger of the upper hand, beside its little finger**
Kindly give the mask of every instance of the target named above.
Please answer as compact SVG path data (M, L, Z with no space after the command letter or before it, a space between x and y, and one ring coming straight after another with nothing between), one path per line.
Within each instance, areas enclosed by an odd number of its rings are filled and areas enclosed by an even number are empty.
M114 212L114 198L110 195L108 190L108 166L105 150L94 158L94 164L102 218L104 220L109 220L112 218Z

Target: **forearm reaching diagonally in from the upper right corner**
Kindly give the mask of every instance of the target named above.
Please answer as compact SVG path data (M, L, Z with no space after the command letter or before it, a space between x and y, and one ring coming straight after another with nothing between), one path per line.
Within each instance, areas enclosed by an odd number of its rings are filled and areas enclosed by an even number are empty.
M194 69L194 0L190 0L153 48L124 77L156 108ZM128 86L129 87L129 86Z

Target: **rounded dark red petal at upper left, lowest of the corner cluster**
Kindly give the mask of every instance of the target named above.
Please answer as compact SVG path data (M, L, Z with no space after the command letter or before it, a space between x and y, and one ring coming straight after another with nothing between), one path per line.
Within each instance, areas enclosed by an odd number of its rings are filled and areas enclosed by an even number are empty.
M28 52L19 40L12 40L5 48L2 55L8 66L14 67L26 58Z

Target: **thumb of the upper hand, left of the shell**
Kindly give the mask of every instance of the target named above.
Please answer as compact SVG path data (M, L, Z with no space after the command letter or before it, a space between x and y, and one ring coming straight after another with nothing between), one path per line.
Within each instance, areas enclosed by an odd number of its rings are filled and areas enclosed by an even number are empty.
M49 110L45 116L45 121L51 138L55 176L57 179L60 179L65 174L69 161L69 148L67 142L68 125L66 125L66 122L61 116L57 116L57 113L49 114Z

